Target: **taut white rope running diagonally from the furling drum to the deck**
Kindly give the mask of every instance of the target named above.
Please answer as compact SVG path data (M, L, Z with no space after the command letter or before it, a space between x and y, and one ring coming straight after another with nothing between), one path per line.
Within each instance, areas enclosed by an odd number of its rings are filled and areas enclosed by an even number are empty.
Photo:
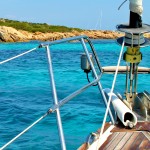
M100 135L99 135L98 143L99 143L99 141L101 139L101 136L102 136L102 133L103 133L103 130L104 130L104 126L105 126L105 122L106 122L106 119L107 119L108 110L109 110L109 107L110 107L110 102L111 102L113 90L114 90L116 79L117 79L118 69L119 69L121 57L122 57L122 54L123 54L124 43L125 42L123 40L121 51L120 51L120 55L119 55L119 59L118 59L118 64L117 64L117 68L116 68L116 72L115 72L115 75L114 75L114 80L113 80L112 88L111 88L111 91L110 91L109 100L108 100L108 103L107 103L107 108L106 108L105 116L104 116L104 119L103 119L103 124L102 124L102 128L101 128L101 132L100 132ZM97 148L96 148L97 150L98 150L98 143L97 143Z

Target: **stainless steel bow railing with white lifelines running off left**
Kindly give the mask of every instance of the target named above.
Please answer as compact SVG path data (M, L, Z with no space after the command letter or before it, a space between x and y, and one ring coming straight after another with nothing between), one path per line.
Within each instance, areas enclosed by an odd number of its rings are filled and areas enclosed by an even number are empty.
M50 46L51 45L55 45L55 44L60 44L60 43L64 43L64 42L70 42L70 41L74 41L74 40L79 40L81 41L81 44L83 46L83 49L85 51L85 54L88 58L88 61L89 61L89 64L91 65L91 69L94 73L94 77L95 77L95 80L92 81L91 83L85 85L84 87L80 88L79 90L73 92L72 94L70 94L69 96L67 96L66 98L60 100L58 102L58 97L57 97L57 90L56 90L56 86L55 86L55 80L54 80L54 73L53 73L53 67L52 67L52 59L51 59L51 53L50 53ZM89 55L89 51L87 49L87 46L86 46L86 43L85 43L85 40L86 42L90 45L91 47L91 50L92 50L92 53L94 55L94 58L96 60L96 63L97 63L97 66L101 72L100 75L97 74L96 72L96 69L90 59L90 55ZM46 49L46 53L47 53L47 59L48 59L48 68L49 68L49 75L50 75L50 79L51 79L51 86L52 86L52 94L53 94L53 100L54 100L54 105L42 116L40 117L38 120L36 120L33 124L31 124L29 127L27 127L25 130L23 130L21 133L19 133L16 137L14 137L12 140L10 140L8 143L6 143L3 147L0 148L0 150L6 148L8 145L10 145L12 142L14 142L17 138L19 138L22 134L24 134L25 132L27 132L29 129L31 129L35 124L37 124L38 122L40 122L42 119L44 119L47 115L53 113L53 112L56 112L56 118L57 118L57 125L58 125L58 129L59 129L59 135L60 135L60 142L61 142L61 148L62 150L66 150L66 144L65 144L65 138L64 138L64 133L63 133L63 127L62 127L62 122L61 122L61 117L60 117L60 111L59 111L59 108L61 106L63 106L65 103L67 103L68 101L72 100L74 97L76 97L77 95L79 95L80 93L84 92L87 88L89 88L90 86L94 85L95 83L98 84L98 88L99 88L99 91L100 93L102 94L102 97L103 97L103 100L107 106L107 99L105 97L105 94L103 92L103 88L102 88L102 85L100 83L100 78L102 76L102 67L100 65L100 62L98 60L98 57L97 57L97 54L96 54L96 51L92 45L92 42L90 41L90 39L87 37L87 36L77 36L77 37L71 37L71 38L67 38L67 39L62 39L62 40L56 40L56 41L52 41L52 42L45 42L44 44L40 44L38 46L38 48L45 48ZM33 52L34 50L37 50L38 48L34 48L34 49L31 49L29 51L26 51L22 54L19 54L17 56L14 56L12 58L9 58L9 59L6 59L2 62L0 62L0 65L3 64L3 63L6 63L8 61L11 61L13 59L16 59L18 57L21 57L23 55L26 55L30 52ZM114 124L115 121L114 121L114 117L112 115L112 112L110 109L108 109L108 113L109 113L109 116L110 116L110 119L112 121L112 123Z

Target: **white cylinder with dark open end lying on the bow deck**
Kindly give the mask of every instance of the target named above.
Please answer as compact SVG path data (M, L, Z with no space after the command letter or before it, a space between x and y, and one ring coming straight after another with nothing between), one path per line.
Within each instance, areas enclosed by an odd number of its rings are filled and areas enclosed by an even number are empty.
M110 96L110 89L104 89L106 97ZM133 128L137 124L137 117L135 114L114 94L112 93L111 102L117 114L117 117L124 126Z

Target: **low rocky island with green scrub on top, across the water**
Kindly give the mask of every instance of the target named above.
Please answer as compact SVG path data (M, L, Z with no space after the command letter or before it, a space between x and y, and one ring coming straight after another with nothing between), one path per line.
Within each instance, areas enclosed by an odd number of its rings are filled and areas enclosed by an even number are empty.
M41 30L41 28L43 30ZM54 29L51 30L51 28ZM116 31L81 30L67 27L56 28L47 24L35 24L0 19L0 42L23 42L30 40L53 41L79 35L87 35L91 39L116 39L123 36L122 33ZM150 34L146 34L146 37L150 38Z

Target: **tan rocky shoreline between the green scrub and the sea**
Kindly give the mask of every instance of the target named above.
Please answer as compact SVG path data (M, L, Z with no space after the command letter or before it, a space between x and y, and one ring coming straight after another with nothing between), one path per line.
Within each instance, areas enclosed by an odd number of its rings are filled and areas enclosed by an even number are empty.
M24 42L30 40L53 41L79 35L87 35L91 39L116 39L123 36L123 33L100 30L84 30L82 32L72 31L63 33L31 33L23 30L16 30L12 27L0 26L0 42ZM150 38L150 34L146 34L146 37Z

